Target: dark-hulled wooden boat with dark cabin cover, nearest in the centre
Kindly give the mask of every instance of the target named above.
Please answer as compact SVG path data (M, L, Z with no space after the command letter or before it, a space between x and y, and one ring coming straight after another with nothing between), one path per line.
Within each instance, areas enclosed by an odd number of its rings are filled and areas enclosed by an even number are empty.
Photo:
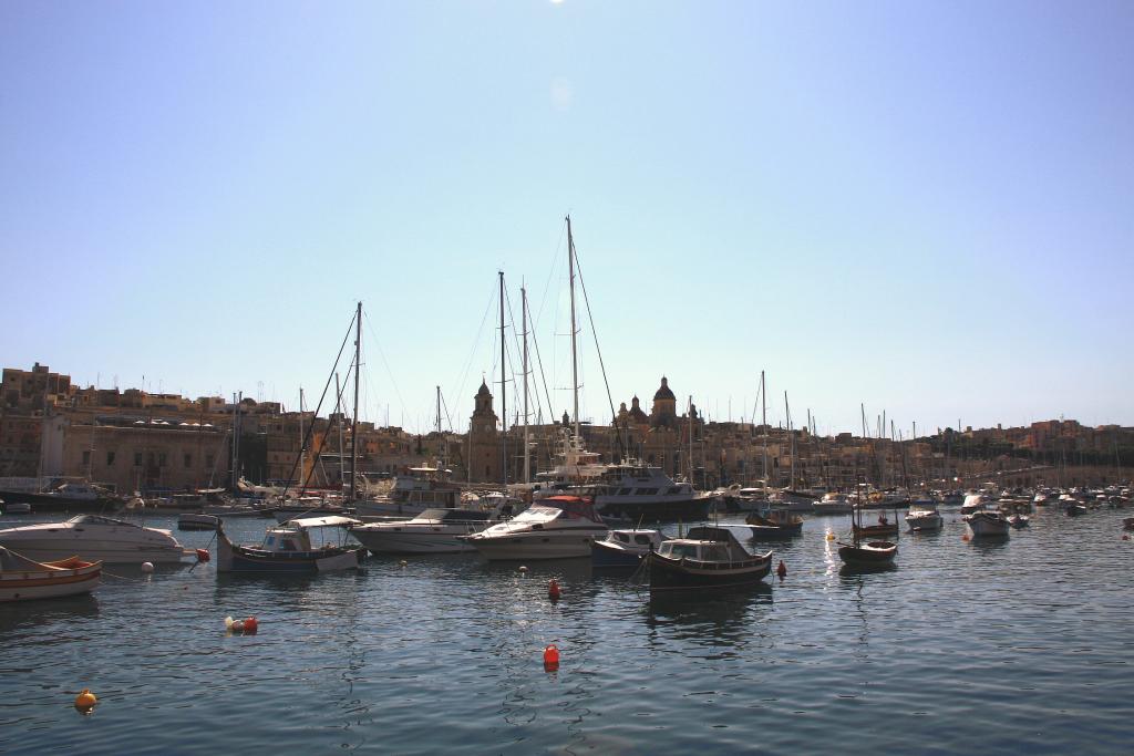
M772 552L753 554L723 527L689 528L687 537L662 542L646 557L650 593L756 585L771 571Z

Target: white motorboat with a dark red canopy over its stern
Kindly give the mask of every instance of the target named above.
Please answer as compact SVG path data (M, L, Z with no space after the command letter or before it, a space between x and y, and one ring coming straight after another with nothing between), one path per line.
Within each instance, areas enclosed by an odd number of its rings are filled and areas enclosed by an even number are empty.
M590 499L550 496L507 523L465 536L489 560L590 557L608 528Z

